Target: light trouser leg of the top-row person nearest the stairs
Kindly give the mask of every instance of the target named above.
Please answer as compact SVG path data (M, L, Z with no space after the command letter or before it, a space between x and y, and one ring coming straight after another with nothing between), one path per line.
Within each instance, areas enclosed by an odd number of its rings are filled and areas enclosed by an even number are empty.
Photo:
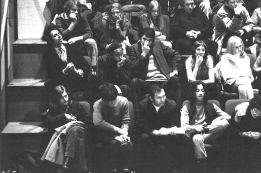
M92 66L95 66L98 58L98 47L94 39L86 39L84 44L87 47L87 54L92 60Z

